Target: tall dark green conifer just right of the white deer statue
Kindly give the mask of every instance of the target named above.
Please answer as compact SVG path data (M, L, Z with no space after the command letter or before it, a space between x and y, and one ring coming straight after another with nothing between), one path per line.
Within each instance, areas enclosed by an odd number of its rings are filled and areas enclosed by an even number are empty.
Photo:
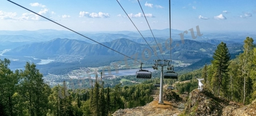
M227 84L229 83L226 76L227 71L229 70L228 65L230 60L230 54L228 48L226 47L226 43L219 43L212 57L213 60L211 60L211 63L216 72L214 73L214 78L217 82L217 95L219 95L221 87L224 95L226 96Z

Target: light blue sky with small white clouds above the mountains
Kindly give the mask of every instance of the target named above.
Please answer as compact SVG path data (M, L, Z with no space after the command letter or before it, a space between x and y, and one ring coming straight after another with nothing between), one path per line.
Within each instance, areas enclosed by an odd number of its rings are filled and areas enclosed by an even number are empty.
M169 0L11 0L75 31L169 28ZM139 3L145 13L139 6ZM171 28L256 33L256 0L171 0ZM7 0L0 1L0 30L67 30Z

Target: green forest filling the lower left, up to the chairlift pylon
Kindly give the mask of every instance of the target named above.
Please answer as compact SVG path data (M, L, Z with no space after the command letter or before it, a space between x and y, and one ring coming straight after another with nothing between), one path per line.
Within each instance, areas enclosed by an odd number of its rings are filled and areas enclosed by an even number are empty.
M91 88L68 89L63 81L50 88L34 63L14 72L9 64L0 60L0 115L108 115L153 100L152 83L104 88L103 81L94 81Z

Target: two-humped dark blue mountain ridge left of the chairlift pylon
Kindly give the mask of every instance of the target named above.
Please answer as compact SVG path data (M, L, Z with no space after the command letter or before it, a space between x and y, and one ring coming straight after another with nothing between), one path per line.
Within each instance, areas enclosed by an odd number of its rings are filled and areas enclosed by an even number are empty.
M125 54L134 54L140 49L146 48L144 44L132 40L120 38L102 44ZM16 47L4 55L41 56L41 55L119 55L111 49L100 44L91 44L75 39L56 38L46 42L37 42Z

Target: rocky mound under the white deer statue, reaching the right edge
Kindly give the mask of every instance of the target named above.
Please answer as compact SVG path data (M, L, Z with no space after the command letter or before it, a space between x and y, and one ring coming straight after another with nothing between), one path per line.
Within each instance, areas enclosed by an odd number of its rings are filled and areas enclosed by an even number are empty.
M214 96L209 90L194 89L185 103L186 115L256 115L256 100L243 105Z

